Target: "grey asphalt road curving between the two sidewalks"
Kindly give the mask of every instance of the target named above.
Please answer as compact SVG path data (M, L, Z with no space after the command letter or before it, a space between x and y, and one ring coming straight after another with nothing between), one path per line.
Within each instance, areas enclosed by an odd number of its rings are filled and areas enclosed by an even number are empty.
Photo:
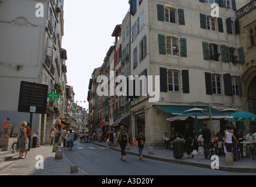
M65 148L64 154L74 165L92 175L243 175L147 158L140 161L139 157L129 154L123 162L120 152L92 143L77 142L77 148L72 151Z

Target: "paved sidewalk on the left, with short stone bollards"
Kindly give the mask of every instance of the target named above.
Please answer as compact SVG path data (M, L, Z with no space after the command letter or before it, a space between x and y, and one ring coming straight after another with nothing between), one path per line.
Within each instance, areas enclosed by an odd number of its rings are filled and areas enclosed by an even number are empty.
M58 147L62 150L62 147ZM42 155L44 159L43 169L36 169L37 155ZM0 175L88 175L86 172L78 169L78 173L72 174L70 167L72 162L65 157L63 151L63 159L56 160L53 146L40 146L30 148L27 153L28 158L19 159L18 156L6 162L12 162L9 167L0 171Z

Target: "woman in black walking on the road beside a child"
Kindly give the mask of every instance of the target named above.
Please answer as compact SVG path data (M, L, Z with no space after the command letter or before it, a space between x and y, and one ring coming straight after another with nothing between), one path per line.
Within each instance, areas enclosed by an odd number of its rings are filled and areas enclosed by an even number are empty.
M124 131L124 126L123 125L120 126L120 131L119 131L119 134L117 135L117 138L116 138L116 144L117 144L118 140L119 140L119 144L120 144L120 147L121 147L120 160L126 161L125 147L126 147L126 145L129 146L129 138L128 138L128 133L126 131Z

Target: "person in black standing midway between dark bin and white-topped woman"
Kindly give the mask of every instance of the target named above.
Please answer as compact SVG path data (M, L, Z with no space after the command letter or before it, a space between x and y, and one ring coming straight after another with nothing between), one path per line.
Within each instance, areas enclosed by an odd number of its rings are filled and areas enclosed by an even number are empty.
M202 138L203 138L203 150L205 152L205 158L210 159L212 157L212 153L210 153L210 137L212 133L210 129L207 128L206 122L203 122L203 130L202 130Z

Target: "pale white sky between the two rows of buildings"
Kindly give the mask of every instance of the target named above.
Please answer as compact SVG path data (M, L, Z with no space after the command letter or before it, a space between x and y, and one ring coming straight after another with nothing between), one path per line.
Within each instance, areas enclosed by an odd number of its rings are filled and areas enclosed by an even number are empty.
M129 8L128 0L64 1L62 47L67 50L67 81L74 87L75 101L86 109L92 71L102 65L115 41L111 34Z

